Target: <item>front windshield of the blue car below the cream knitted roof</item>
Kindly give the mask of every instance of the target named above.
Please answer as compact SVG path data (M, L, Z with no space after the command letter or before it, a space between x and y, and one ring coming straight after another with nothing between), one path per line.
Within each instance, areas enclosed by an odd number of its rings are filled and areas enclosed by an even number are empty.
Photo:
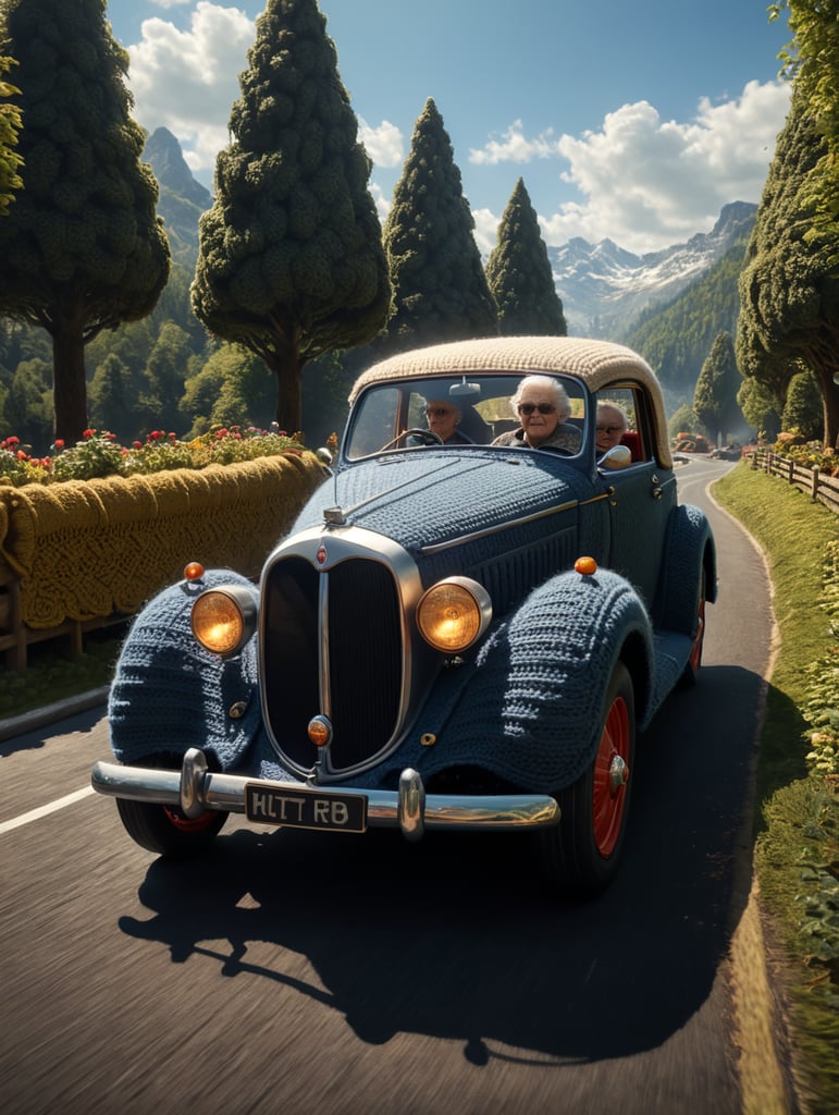
M420 449L440 442L465 447L491 445L521 428L510 399L523 378L470 374L373 384L352 408L344 456L358 460L384 450ZM558 440L565 452L577 453L586 417L584 388L572 377L547 378L562 385L570 403L570 413L558 429ZM539 401L544 401L543 395L549 398L550 394L546 385ZM549 424L552 417L548 414L544 419Z

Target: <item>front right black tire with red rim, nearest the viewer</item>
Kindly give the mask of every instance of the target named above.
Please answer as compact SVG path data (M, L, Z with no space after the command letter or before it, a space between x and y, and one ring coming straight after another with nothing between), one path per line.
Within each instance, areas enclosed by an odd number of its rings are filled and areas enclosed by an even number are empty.
M559 824L538 834L543 870L552 882L587 896L609 885L623 851L634 762L635 696L630 672L618 662L606 690L597 755L573 786L554 795Z

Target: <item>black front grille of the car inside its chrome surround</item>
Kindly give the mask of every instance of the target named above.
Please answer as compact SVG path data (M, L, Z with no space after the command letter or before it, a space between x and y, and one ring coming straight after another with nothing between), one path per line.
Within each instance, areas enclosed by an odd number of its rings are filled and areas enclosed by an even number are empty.
M294 765L318 754L306 725L320 711L321 578L329 578L330 766L362 765L397 729L402 691L399 594L387 565L350 559L320 572L302 558L281 559L265 583L263 679L271 735Z

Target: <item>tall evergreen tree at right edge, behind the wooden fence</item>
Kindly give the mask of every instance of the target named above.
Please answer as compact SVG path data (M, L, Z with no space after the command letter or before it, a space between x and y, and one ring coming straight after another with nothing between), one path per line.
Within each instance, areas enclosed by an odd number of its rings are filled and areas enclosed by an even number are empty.
M808 175L825 151L801 94L793 88L787 123L778 136L758 216L740 277L736 358L744 376L768 382L786 397L802 362L819 381L825 437L839 436L839 270L832 248L813 241Z

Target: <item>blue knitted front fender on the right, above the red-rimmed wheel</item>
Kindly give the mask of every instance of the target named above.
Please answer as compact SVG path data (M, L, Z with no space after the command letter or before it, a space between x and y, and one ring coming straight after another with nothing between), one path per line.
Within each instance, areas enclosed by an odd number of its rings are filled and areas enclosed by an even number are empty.
M559 574L498 626L465 672L450 671L396 758L426 779L469 765L523 789L562 789L594 759L606 687L624 649L643 721L654 665L641 598L605 570Z

